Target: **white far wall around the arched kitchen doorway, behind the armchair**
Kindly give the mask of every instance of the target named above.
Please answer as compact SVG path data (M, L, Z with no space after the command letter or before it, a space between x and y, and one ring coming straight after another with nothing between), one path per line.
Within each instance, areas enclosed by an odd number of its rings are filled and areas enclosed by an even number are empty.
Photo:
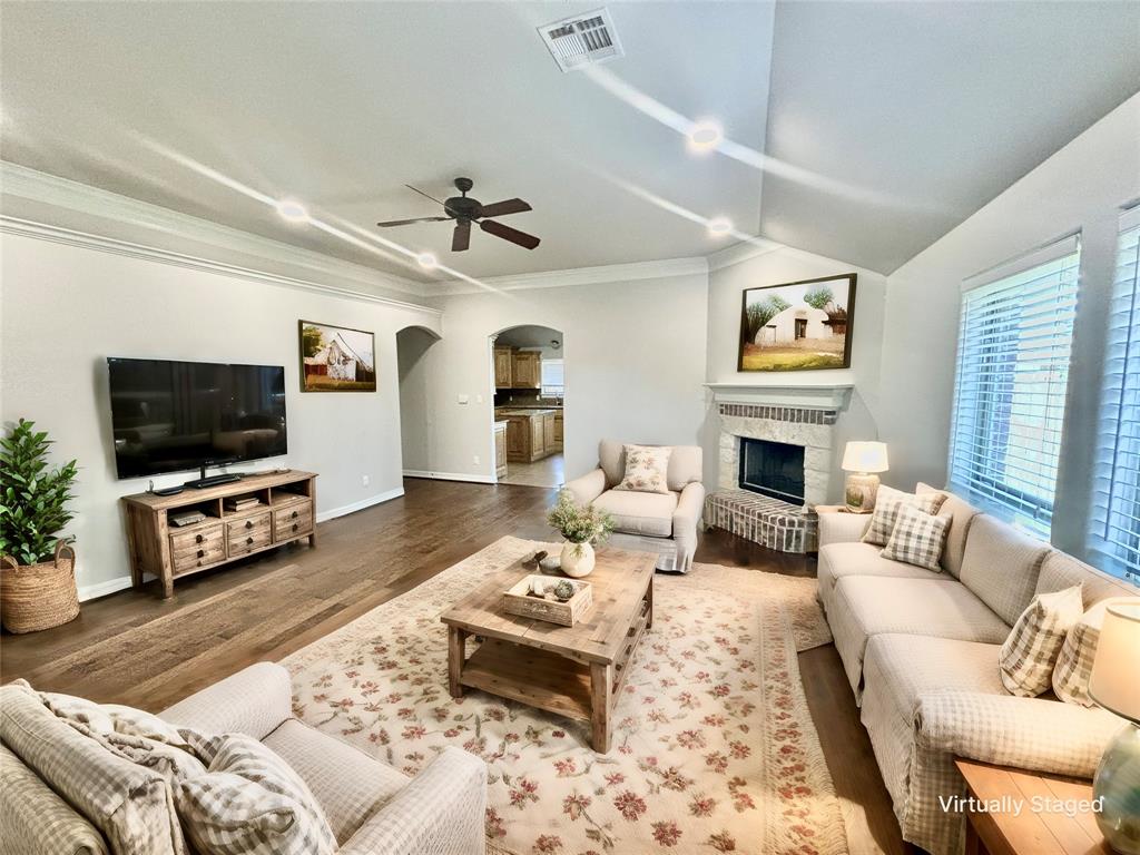
M597 462L603 437L697 442L705 410L703 272L454 294L437 306L443 309L445 335L424 357L432 400L427 430L434 438L431 471L492 480L489 336L521 324L563 333L568 479ZM461 394L470 404L458 404Z

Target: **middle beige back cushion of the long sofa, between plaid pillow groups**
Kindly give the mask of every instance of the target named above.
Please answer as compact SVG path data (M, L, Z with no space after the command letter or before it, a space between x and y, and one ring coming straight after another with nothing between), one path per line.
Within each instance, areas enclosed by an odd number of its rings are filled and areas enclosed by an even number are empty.
M1041 540L979 514L966 539L962 584L1012 626L1033 600L1041 562L1049 552Z

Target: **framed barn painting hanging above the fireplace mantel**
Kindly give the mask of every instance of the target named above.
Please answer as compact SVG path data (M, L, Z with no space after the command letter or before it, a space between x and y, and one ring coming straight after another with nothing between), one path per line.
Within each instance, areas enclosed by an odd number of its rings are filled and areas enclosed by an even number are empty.
M855 274L744 291L741 372L850 368Z

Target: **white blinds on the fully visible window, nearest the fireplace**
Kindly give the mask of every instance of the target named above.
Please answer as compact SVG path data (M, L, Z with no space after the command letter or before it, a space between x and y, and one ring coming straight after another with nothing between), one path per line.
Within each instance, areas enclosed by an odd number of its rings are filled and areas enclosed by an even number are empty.
M964 283L950 482L1048 538L1076 315L1080 241L1065 238Z

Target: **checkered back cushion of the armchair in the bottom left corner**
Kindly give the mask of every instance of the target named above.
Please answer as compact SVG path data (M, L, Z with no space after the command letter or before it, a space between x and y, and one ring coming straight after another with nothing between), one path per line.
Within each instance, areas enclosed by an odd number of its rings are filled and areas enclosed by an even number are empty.
M112 852L186 852L165 779L56 718L31 689L0 687L0 740L99 829Z

